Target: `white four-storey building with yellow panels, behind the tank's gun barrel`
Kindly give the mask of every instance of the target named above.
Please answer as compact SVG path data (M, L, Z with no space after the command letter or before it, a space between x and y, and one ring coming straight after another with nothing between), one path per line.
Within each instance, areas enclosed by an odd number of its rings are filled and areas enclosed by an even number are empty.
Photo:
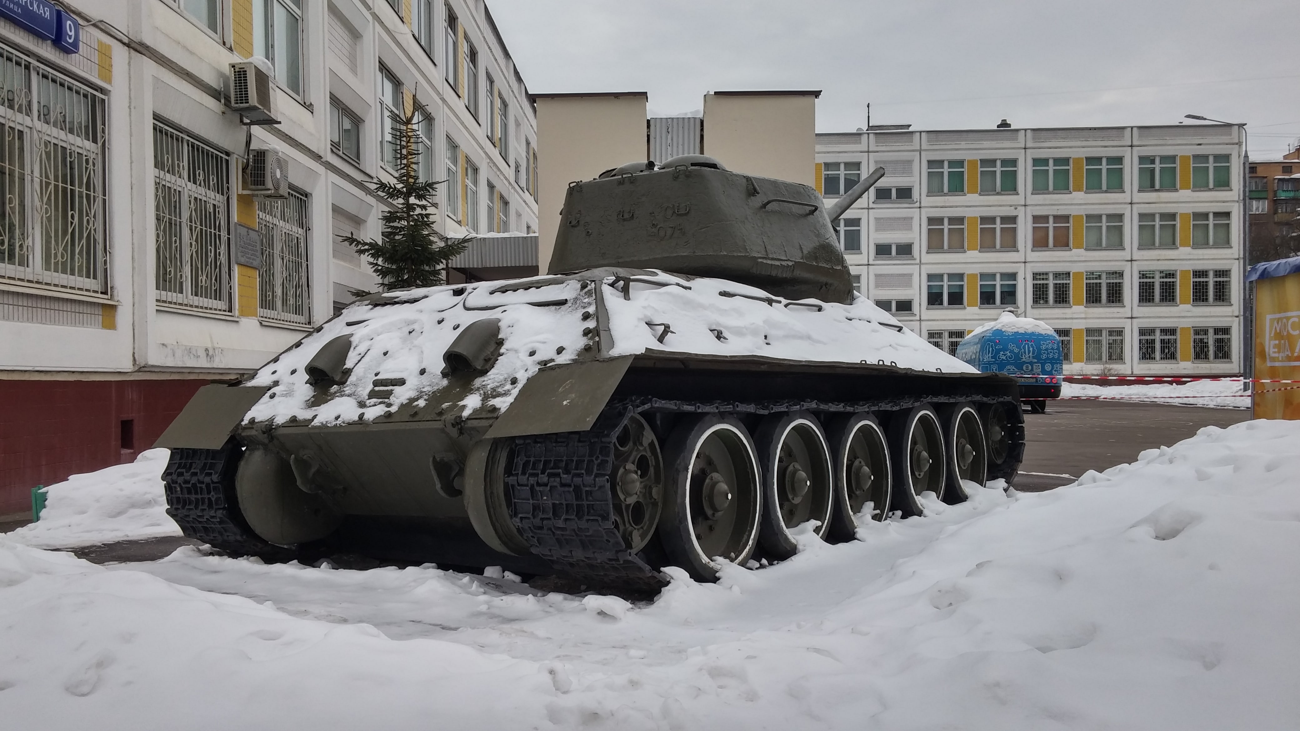
M1242 140L1228 125L816 135L859 291L939 347L1015 308L1066 373L1242 369Z

